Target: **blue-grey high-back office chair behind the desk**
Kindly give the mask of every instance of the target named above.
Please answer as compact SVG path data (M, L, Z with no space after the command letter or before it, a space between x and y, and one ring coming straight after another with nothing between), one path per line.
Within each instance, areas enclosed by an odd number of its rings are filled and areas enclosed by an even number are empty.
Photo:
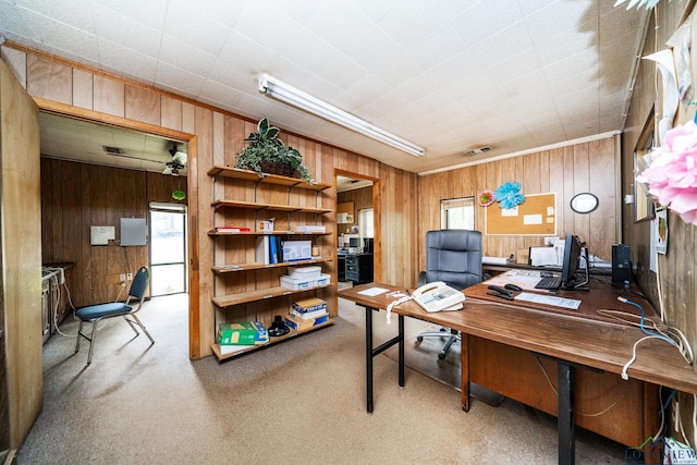
M451 287L463 290L481 282L481 233L469 230L442 230L426 233L426 270L419 273L418 285L427 282L443 281ZM438 354L441 360L455 341L462 341L461 334L447 328L440 331L421 332L424 338L445 338Z

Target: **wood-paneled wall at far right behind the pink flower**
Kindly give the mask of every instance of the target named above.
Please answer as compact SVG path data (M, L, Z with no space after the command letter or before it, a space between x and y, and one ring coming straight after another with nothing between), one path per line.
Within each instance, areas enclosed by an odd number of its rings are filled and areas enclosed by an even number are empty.
M689 13L694 1L689 2L660 2L651 14L651 23L648 26L644 50L641 56L653 53L665 48L665 41L681 25L683 17ZM692 17L690 52L692 75L697 76L697 53L694 50L695 30L697 22L695 12ZM660 97L657 96L656 83L660 75L653 62L639 61L639 70L632 94L629 111L627 114L625 131L622 134L622 191L624 194L634 194L634 148L644 124L655 107L657 118L661 114ZM694 119L695 106L681 103L674 124L683 124ZM687 336L693 350L697 347L697 228L686 224L675 213L668 215L669 240L667 255L658 255L657 265L659 273L651 271L650 262L650 227L649 221L634 221L634 206L626 205L623 209L623 236L624 242L632 248L632 260L635 266L635 277L644 293L658 308L661 305L665 320L677 327ZM660 286L660 293L659 293ZM697 364L694 365L697 370ZM692 413L694 397L680 394L680 412L682 424L686 433L695 445L695 431L693 429ZM673 425L674 426L674 425ZM682 435L673 430L675 438Z

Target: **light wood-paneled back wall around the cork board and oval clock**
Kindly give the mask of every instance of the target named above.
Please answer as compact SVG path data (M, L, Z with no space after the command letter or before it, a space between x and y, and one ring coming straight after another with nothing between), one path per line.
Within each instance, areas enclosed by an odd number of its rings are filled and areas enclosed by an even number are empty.
M619 155L614 137L583 143L509 158L501 161L461 168L420 176L419 204L419 265L426 256L426 232L440 229L440 200L475 196L486 189L496 191L501 184L515 181L523 194L557 193L557 235L576 234L588 245L591 254L610 260L612 244L619 231L616 182ZM588 215L575 213L568 206L571 198L591 192L600 200L598 209ZM499 208L497 204L487 208ZM475 207L475 228L485 230L485 207ZM485 256L509 257L518 248L543 245L543 236L484 235Z

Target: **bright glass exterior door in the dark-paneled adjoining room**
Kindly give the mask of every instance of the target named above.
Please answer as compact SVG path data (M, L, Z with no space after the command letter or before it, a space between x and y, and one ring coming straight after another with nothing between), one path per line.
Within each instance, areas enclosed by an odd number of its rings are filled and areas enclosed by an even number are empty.
M150 295L185 293L186 261L186 206L151 201Z

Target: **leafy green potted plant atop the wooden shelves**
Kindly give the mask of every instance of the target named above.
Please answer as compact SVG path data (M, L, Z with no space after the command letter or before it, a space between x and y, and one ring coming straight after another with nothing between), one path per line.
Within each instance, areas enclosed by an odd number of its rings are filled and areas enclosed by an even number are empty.
M236 155L235 168L254 170L261 178L266 174L280 174L299 178L311 184L314 180L309 169L303 163L303 156L296 148L285 146L278 138L280 132L266 118L261 119L257 124L257 132L244 139L248 145Z

